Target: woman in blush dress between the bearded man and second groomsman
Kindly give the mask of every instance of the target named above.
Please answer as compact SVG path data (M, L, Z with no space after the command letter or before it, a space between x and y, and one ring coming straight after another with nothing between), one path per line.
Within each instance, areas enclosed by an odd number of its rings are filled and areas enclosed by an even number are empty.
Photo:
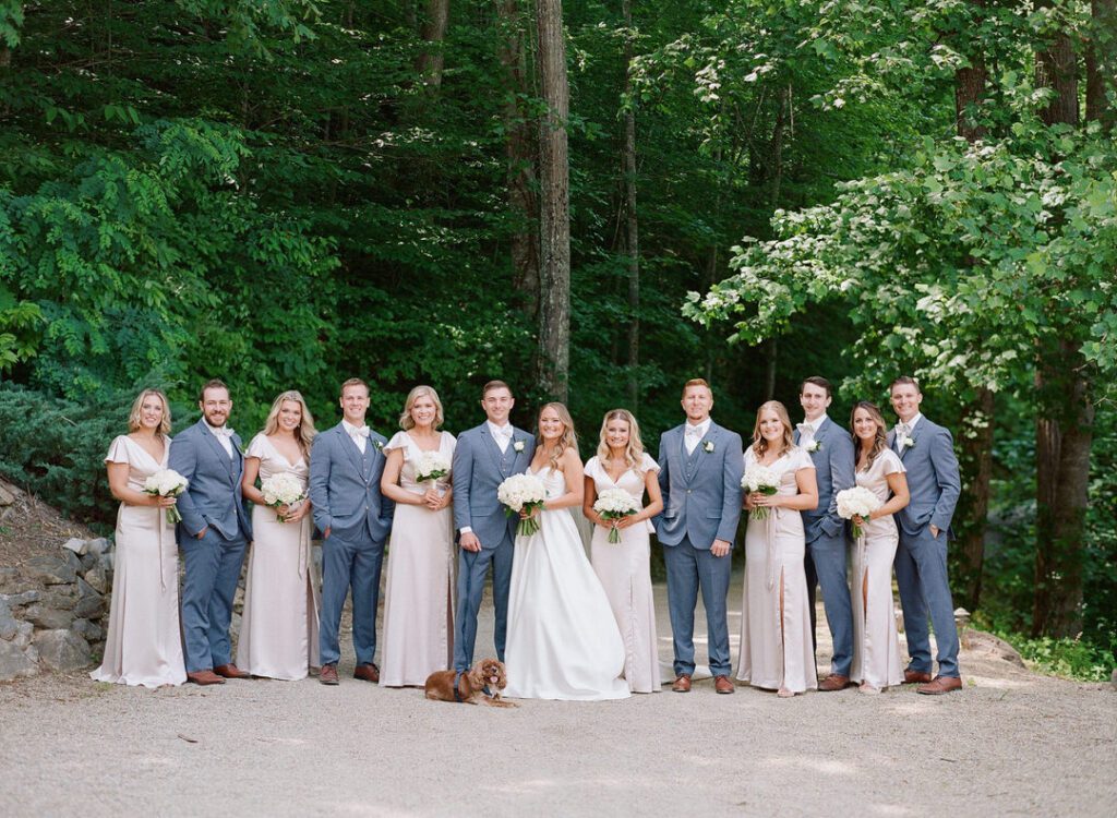
M311 501L306 498L314 436L306 401L290 390L275 399L264 431L245 453L241 489L255 503L254 541L237 666L252 676L297 681L318 666L318 583L311 559ZM281 473L298 481L304 500L273 508L265 504L256 479Z

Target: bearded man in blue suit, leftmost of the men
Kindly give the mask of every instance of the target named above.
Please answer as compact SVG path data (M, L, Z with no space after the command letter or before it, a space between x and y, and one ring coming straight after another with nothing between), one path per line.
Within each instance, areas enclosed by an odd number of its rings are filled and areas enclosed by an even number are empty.
M171 441L168 468L189 481L178 503L182 515L179 550L185 562L182 637L187 678L213 685L248 677L230 658L229 621L252 529L240 493L245 468L240 438L226 426L232 410L229 388L219 380L207 382L198 408L201 420Z

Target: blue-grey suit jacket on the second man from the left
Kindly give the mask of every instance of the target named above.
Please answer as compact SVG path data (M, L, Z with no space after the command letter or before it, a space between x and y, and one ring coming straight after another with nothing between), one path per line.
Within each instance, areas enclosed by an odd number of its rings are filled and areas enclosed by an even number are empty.
M380 494L380 477L384 473L383 448L388 439L375 431L369 434L369 468L363 468L361 449L338 424L314 438L311 448L311 503L314 524L325 535L341 534L360 538L362 532L373 542L384 542L392 529L395 504Z

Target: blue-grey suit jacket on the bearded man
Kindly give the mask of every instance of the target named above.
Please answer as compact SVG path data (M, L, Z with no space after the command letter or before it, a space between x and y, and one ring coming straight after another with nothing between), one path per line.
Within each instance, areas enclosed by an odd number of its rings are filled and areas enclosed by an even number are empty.
M232 440L232 457L210 431L202 418L183 429L171 441L168 468L185 477L190 485L179 497L180 530L198 536L213 526L226 540L244 534L252 539L252 524L245 512L240 478L245 473L245 458L240 454L240 437Z

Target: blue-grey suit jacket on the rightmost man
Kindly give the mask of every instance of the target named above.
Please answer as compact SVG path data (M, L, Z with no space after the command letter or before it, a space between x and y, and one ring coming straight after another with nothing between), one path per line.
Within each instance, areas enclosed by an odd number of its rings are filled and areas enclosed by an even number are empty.
M951 520L962 493L958 458L954 455L954 438L947 429L920 417L911 430L913 445L900 451L907 469L911 502L896 513L904 533L918 534L928 525L953 536ZM888 432L888 446L896 450L896 432Z

